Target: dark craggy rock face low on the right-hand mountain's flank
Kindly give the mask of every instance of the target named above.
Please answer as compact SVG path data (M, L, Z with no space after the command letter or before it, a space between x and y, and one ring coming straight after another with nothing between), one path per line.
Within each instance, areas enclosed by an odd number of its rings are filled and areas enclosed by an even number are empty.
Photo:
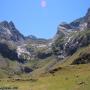
M88 32L89 35L86 34ZM82 35L84 34L84 35ZM85 47L90 44L90 32L88 30L80 32L76 37L72 37L69 42L66 42L64 50L66 55L72 55L80 47Z

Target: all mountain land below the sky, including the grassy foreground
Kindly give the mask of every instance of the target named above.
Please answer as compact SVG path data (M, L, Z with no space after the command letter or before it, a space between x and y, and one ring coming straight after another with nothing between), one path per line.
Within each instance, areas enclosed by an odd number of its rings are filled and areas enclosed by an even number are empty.
M5 89L90 90L90 9L59 24L52 39L24 36L12 21L0 22L1 89L2 82Z

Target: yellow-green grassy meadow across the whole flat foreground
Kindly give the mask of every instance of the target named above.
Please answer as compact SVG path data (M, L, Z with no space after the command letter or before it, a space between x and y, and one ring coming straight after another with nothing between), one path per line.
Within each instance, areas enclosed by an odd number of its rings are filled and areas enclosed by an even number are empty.
M53 75L42 74L37 80L1 79L1 88L11 90L90 90L90 64L62 67ZM26 79L26 80L25 80Z

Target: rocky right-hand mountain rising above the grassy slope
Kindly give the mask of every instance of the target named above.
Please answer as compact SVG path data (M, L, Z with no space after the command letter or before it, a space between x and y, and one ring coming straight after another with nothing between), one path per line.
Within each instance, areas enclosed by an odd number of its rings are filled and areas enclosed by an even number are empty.
M59 58L75 53L79 48L90 44L90 9L82 18L70 24L61 23L53 38L53 51Z

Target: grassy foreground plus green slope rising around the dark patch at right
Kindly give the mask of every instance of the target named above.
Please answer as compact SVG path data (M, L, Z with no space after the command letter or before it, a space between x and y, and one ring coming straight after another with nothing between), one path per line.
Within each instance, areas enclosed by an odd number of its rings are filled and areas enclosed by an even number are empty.
M63 64L58 62L46 73L42 70L52 62L34 72L33 77L23 74L21 77L0 79L0 87L17 87L18 90L90 90L90 64L72 65L81 53L90 53L89 50L90 46L81 48Z

